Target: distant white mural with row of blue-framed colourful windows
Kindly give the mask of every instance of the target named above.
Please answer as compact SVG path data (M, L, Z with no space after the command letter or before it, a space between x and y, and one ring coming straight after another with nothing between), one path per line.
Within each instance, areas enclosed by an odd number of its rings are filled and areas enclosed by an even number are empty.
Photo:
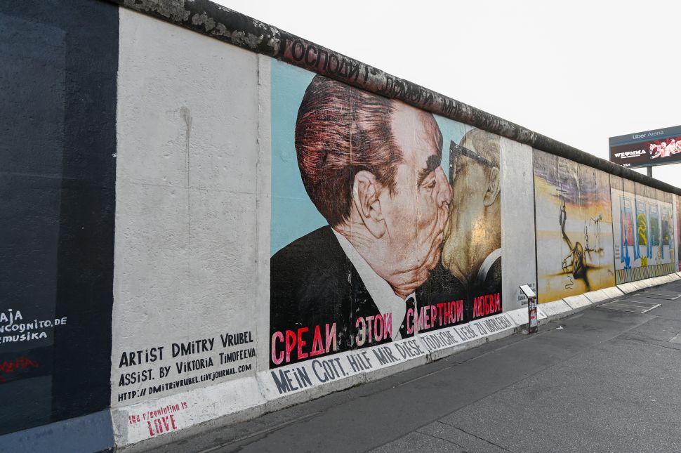
M617 284L675 271L671 194L611 176Z

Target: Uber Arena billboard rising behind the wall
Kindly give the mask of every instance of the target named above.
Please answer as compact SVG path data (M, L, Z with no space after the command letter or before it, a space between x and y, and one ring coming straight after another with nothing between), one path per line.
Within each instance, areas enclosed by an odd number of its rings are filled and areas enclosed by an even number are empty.
M681 126L610 137L610 162L639 167L681 162Z

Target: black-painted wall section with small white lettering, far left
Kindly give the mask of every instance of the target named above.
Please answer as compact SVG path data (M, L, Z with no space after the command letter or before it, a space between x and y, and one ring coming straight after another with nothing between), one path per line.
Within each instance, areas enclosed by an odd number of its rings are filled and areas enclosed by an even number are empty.
M110 405L118 30L0 3L0 435Z

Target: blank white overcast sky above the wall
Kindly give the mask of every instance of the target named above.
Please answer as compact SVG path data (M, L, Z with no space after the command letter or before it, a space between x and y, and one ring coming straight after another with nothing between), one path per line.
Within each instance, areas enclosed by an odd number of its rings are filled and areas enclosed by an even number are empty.
M681 124L678 0L218 3L604 159Z

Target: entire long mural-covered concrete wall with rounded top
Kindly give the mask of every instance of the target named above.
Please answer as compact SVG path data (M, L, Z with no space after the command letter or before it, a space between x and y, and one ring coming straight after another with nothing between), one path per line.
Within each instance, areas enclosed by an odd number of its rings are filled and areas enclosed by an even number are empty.
M680 189L210 1L0 23L0 450L161 445L520 331L520 285L546 322L680 278Z

